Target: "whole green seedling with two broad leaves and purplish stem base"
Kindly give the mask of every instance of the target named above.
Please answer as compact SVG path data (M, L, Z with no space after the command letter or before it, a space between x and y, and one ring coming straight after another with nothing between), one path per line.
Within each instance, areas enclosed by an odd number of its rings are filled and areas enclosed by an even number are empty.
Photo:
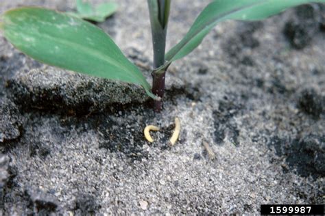
M2 15L0 27L9 42L40 62L86 75L141 85L154 99L155 111L160 111L167 68L191 53L217 23L226 20L258 21L310 2L324 3L325 0L211 1L197 16L184 38L165 53L171 0L147 0L154 46L152 86L108 34L75 16L45 8L17 8Z

